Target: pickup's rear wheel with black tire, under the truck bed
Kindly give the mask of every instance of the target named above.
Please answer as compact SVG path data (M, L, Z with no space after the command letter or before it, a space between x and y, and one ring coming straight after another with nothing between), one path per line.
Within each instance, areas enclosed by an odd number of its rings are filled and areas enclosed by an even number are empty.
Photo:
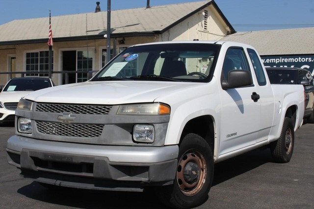
M294 148L294 129L290 118L285 117L283 129L280 138L277 141L271 142L271 155L276 162L289 162Z

